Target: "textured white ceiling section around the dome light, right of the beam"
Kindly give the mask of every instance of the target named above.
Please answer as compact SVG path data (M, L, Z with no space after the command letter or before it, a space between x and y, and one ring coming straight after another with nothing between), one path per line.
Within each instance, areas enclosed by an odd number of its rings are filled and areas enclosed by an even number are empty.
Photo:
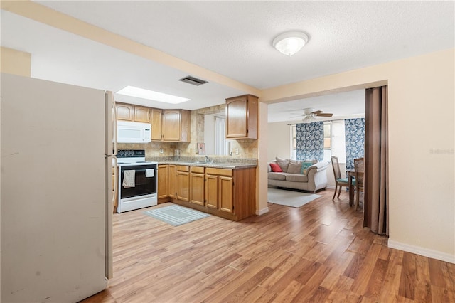
M38 2L257 88L454 47L453 1ZM311 38L288 58L290 30Z

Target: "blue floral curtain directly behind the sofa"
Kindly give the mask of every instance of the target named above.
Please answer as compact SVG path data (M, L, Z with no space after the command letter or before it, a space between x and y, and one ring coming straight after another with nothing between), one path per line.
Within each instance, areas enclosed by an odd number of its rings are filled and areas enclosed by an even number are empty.
M296 124L296 154L297 160L316 159L323 161L323 122Z

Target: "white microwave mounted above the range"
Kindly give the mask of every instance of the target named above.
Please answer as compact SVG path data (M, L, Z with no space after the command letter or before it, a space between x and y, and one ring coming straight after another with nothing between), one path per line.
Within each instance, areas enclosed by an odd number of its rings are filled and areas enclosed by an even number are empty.
M151 124L129 121L117 121L117 142L119 143L151 142Z

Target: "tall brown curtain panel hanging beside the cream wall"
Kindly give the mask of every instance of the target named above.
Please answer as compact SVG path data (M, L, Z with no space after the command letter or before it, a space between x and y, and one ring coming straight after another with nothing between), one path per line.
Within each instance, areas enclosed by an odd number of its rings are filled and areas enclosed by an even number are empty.
M363 227L389 235L387 86L365 93L365 196Z

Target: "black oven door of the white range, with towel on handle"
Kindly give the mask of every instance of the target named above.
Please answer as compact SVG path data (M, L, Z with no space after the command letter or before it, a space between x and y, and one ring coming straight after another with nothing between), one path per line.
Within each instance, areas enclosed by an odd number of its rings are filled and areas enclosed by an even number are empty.
M121 199L152 195L156 193L156 164L122 165L119 171L119 195ZM134 186L123 186L124 171L134 171ZM148 174L146 174L148 172Z

